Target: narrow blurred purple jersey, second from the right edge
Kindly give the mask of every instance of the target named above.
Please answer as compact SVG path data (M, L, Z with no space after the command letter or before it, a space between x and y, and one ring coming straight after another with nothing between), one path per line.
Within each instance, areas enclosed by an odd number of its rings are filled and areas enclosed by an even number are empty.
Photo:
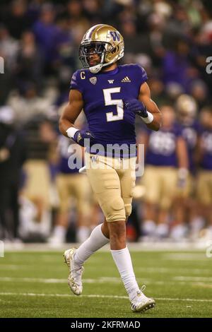
M197 138L200 131L200 125L197 121L193 124L186 126L182 124L182 137L187 143L187 152L189 157L189 170L194 172L194 152L196 148Z

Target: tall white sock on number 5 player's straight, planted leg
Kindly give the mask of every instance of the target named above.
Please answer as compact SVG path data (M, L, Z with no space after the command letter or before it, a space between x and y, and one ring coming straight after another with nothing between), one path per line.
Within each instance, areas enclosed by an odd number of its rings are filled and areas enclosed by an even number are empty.
M110 251L121 275L126 292L129 295L129 300L132 300L136 296L136 292L139 291L139 285L136 282L136 277L134 274L134 268L131 263L131 256L129 254L129 250L126 247L121 250Z

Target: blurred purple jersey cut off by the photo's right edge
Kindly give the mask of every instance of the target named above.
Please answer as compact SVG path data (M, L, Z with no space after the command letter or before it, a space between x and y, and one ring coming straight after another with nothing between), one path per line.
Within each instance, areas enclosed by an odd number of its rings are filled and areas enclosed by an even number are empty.
M201 150L203 155L200 166L204 170L212 170L212 129L202 129Z

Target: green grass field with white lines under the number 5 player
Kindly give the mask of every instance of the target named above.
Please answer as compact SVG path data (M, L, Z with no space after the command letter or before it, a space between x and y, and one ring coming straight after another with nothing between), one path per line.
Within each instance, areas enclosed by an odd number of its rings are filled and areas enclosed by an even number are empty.
M205 251L131 251L139 285L156 307L131 312L110 252L85 264L83 295L71 295L63 251L0 258L0 317L212 317L212 258Z

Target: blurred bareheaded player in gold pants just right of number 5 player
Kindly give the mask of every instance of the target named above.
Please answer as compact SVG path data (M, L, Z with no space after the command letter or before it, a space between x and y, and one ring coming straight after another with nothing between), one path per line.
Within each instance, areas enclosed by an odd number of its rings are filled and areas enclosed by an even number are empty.
M142 177L146 189L143 235L159 239L169 234L168 217L177 187L184 186L187 177L187 148L182 131L175 124L175 109L161 107L163 127L146 130L141 143L146 146L146 167Z

